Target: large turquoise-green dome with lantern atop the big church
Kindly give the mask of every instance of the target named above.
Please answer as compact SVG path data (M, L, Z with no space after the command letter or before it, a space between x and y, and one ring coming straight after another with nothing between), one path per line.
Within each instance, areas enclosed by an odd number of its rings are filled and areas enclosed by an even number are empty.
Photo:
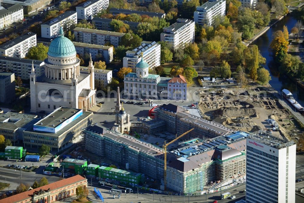
M69 57L76 54L76 49L67 37L64 37L62 27L60 27L59 36L56 37L49 46L47 54L52 57Z

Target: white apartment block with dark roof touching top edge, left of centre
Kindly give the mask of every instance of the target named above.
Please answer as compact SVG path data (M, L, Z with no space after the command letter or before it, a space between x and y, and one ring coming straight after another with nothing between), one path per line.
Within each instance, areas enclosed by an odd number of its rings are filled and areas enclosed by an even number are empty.
M107 9L109 6L109 0L89 0L83 4L76 6L76 12L78 19L92 20L101 10Z

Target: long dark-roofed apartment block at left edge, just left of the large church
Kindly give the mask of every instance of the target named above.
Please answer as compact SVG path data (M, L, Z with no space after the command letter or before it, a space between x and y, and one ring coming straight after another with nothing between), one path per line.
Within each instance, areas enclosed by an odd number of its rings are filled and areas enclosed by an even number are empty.
M29 80L32 65L37 77L44 74L44 61L21 59L18 57L0 56L0 71L9 71L15 73L15 77L21 77L22 80Z

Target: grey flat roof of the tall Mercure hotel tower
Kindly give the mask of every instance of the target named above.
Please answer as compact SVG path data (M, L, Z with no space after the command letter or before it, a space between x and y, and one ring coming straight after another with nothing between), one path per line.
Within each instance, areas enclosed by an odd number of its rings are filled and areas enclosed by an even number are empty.
M248 138L277 149L285 148L295 144L294 141L282 140L264 130L258 130L250 133Z

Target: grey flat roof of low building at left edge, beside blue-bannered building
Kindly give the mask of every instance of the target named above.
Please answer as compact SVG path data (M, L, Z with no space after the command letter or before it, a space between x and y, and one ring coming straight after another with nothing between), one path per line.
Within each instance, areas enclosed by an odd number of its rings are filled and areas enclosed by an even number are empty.
M27 123L37 121L36 115L7 112L0 113L0 129L16 130L19 127L26 126Z

